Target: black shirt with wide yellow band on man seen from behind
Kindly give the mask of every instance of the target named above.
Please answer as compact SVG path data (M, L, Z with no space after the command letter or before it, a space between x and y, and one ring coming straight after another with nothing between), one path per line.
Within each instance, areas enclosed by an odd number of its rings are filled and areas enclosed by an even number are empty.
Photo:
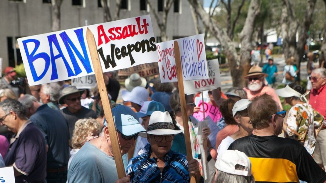
M251 135L235 140L229 150L244 152L250 159L256 182L288 183L304 180L322 183L326 173L299 142L277 136Z

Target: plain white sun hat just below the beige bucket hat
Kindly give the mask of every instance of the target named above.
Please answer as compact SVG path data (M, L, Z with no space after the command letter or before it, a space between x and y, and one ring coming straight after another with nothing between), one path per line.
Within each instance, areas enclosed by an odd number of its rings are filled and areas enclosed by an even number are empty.
M130 101L142 105L143 102L148 101L149 93L146 88L136 86L131 92L126 90L122 91L121 96L124 101Z

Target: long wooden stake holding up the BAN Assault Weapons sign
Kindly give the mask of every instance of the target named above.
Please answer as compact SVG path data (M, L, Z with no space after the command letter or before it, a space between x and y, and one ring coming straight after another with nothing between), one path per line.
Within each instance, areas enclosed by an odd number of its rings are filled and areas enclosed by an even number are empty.
M98 91L101 96L105 118L108 123L108 130L109 130L110 140L112 144L115 166L117 168L118 177L120 179L126 176L125 167L122 162L120 145L119 145L116 128L113 121L111 105L108 96L108 90L106 89L106 85L104 83L103 71L102 71L100 60L98 58L95 38L91 30L89 30L89 28L87 28L86 31L86 40L92 58L96 82L98 86Z

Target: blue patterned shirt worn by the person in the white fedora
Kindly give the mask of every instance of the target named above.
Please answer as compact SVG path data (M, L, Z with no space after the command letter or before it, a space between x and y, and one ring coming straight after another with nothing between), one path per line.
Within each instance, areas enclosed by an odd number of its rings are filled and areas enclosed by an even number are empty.
M188 161L185 155L170 150L164 157L165 167L161 174L157 166L157 158L151 157L151 146L145 146L147 152L129 160L126 172L130 182L150 183L189 183Z

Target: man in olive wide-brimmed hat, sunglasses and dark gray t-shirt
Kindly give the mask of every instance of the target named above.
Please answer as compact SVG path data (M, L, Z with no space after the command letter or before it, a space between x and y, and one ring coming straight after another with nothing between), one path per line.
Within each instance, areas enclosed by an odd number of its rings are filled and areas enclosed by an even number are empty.
M67 107L61 110L61 113L66 118L69 128L70 138L75 129L75 123L83 118L97 118L96 113L82 106L81 96L85 90L78 90L76 86L68 86L62 90L59 104L67 104Z

